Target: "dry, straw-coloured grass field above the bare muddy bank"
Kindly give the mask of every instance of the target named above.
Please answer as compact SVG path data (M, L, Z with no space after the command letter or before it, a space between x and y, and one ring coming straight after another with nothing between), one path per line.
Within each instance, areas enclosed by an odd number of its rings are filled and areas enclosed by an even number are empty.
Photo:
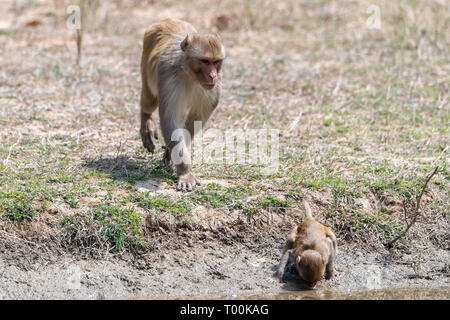
M367 26L372 4L380 29ZM283 223L273 227L285 230L306 197L341 241L378 247L404 228L403 199L439 166L406 240L448 244L445 1L108 2L87 20L81 68L64 5L0 4L0 228L14 234L39 217L67 239L64 217L113 203L140 215L142 229L149 213L195 215L200 204L245 221L275 206ZM281 167L267 179L252 167L197 164L219 189L179 194L162 150L146 154L138 136L142 34L167 16L214 30L220 15L228 58L210 126L279 129ZM31 19L40 23L26 26ZM145 202L138 183L149 178L168 202Z

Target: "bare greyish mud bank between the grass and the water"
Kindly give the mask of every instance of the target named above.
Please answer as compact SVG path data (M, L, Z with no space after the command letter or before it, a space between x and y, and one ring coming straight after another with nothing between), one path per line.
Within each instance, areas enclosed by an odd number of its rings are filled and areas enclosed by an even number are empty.
M276 299L286 292L306 290L305 298L325 299L325 294L345 298L343 294L360 290L409 288L405 293L411 293L414 289L443 287L440 295L430 298L448 298L448 252L444 250L422 256L421 268L426 276L417 276L411 266L416 259L413 254L365 253L345 246L339 250L335 278L322 280L315 290L308 290L293 265L288 267L285 283L273 278L278 244L269 241L265 246L274 249L265 252L239 243L224 246L202 241L157 250L133 262L63 255L57 261L31 264L26 270L2 261L0 293L2 299L239 299L249 295ZM352 298L363 299L364 295ZM414 297L401 294L396 298Z

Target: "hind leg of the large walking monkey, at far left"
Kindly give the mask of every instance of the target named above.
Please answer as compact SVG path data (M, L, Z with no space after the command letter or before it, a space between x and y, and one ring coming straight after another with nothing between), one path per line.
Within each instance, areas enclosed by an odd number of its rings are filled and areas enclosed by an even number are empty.
M143 84L141 93L141 139L144 147L151 153L155 151L156 140L158 139L158 126L153 119L153 112L158 106L158 99L150 93L150 90Z

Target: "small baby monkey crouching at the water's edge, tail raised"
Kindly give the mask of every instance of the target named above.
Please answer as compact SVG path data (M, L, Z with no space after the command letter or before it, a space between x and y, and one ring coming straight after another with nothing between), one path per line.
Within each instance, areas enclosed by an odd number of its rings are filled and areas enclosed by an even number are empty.
M310 288L314 288L324 274L325 279L333 276L337 243L331 229L312 217L311 209L305 200L303 205L307 218L289 234L278 265L277 277L282 281L284 268L289 255L292 254L299 276Z

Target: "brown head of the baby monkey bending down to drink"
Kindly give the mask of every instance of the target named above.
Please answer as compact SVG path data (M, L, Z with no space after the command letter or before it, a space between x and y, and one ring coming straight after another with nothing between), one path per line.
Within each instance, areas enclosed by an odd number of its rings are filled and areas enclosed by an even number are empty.
M297 257L295 265L300 277L310 288L314 288L325 273L326 261L317 251L305 250Z

